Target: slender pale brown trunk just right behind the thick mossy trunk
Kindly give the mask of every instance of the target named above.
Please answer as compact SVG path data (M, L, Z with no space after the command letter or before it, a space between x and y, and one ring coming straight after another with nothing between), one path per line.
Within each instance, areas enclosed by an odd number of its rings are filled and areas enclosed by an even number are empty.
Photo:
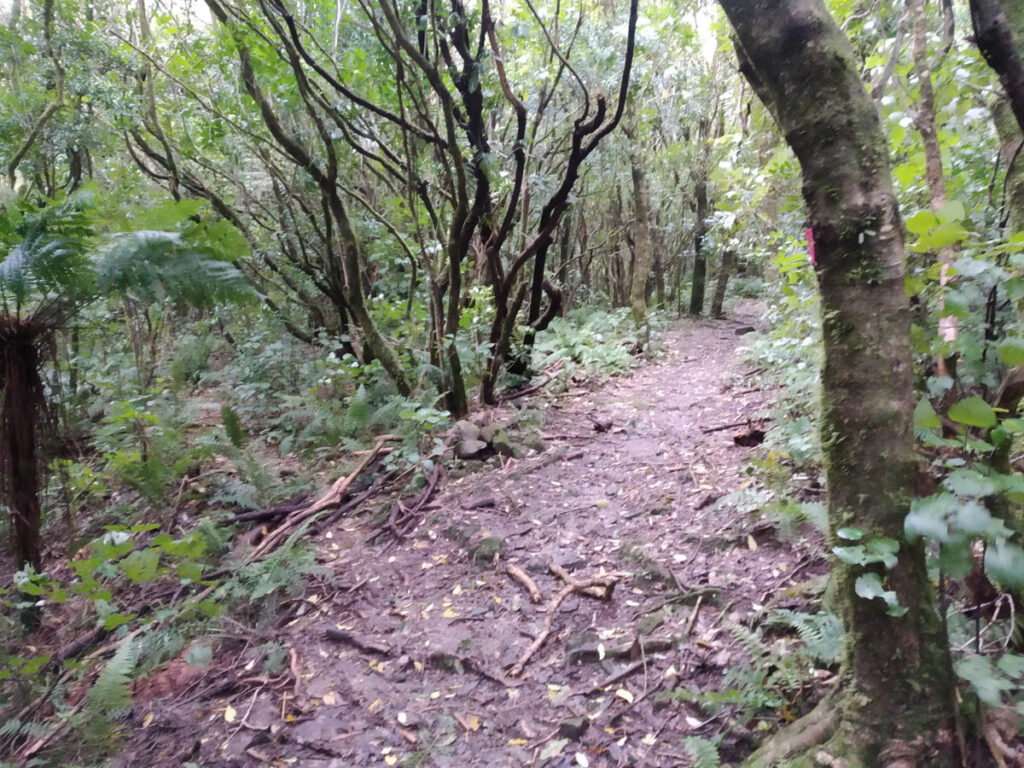
M925 178L928 181L928 191L931 198L932 211L938 211L948 202L946 197L946 178L942 171L942 150L939 146L939 132L935 125L935 94L932 90L932 68L928 61L928 16L925 13L925 0L907 0L907 12L913 30L912 51L913 72L918 79L918 91L921 95L921 105L914 117L918 132L925 146ZM951 268L956 252L952 246L939 249L939 286L945 288L951 279ZM955 315L944 314L945 301L939 295L939 336L945 344L956 343L959 321ZM950 364L944 353L937 359L939 376L949 376Z

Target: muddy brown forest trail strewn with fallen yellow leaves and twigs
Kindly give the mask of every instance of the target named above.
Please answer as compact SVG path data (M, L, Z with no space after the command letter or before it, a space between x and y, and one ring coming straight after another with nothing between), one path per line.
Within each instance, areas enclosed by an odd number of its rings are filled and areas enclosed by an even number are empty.
M742 660L724 625L823 569L813 542L779 542L715 504L752 481L750 454L733 441L743 428L702 429L765 408L735 354L737 328L755 319L745 311L683 323L649 365L554 398L546 452L446 478L403 541L368 544L367 517L324 535L319 560L335 585L307 596L279 640L294 686L288 676L208 701L203 722L214 730L193 759L207 768L690 764L686 737L735 726L678 695L720 688ZM610 427L598 432L594 420ZM575 579L627 575L610 600L567 595L546 642L509 677L565 586L551 563ZM508 565L530 577L540 602ZM219 716L227 706L230 725ZM749 738L733 730L723 759Z

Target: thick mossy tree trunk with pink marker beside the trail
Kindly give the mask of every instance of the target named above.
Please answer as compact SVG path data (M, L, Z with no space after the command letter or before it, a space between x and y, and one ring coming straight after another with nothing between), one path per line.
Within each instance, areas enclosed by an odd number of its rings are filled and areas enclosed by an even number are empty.
M847 630L842 685L810 720L750 761L824 752L858 766L951 763L951 665L924 549L903 519L914 471L910 312L903 226L874 103L821 0L721 0L740 68L800 161L814 229L824 338L822 444L833 531L899 543L897 564L839 565ZM902 616L856 594L881 579ZM828 739L822 748L814 743ZM829 763L833 764L833 763ZM835 764L839 764L836 762Z

